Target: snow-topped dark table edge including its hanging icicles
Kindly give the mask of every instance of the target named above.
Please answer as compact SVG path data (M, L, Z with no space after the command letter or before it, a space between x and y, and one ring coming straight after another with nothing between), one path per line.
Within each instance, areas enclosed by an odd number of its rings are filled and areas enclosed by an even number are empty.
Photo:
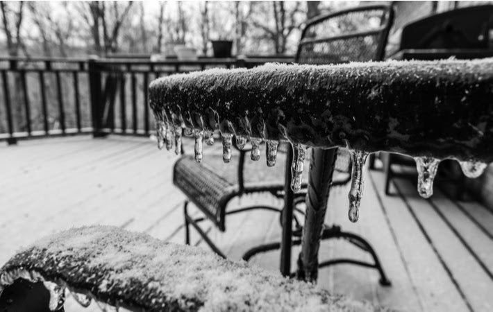
M181 135L202 141L222 134L224 162L233 136L251 159L266 141L274 166L279 140L294 149L292 189L301 187L307 147L346 147L353 158L349 218L358 219L363 168L369 153L415 158L419 194L433 193L440 160L460 162L467 177L493 160L493 59L389 61L337 65L266 64L253 69L211 69L154 80L149 101L158 144L179 153Z

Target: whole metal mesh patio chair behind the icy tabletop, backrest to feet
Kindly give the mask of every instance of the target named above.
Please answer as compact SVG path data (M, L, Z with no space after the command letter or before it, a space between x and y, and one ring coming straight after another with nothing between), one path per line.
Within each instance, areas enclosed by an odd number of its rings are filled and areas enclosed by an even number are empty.
M303 30L301 42L296 53L296 62L305 64L331 64L382 60L392 17L392 8L390 6L360 6L316 17L308 21ZM203 237L204 241L210 245L212 250L222 255L222 257L226 257L208 238L206 232L199 227L198 223L206 219L212 220L212 223L224 232L226 230L226 216L229 214L251 209L268 209L278 213L282 212L281 209L276 207L267 207L264 205L242 207L233 211L227 211L226 206L232 198L242 196L246 193L267 191L278 197L283 195L284 181L282 179L280 182L268 185L257 182L256 184L247 186L244 183L244 176L249 175L247 172L251 170L249 166L244 165L246 153L246 151L240 150L237 183L231 182L231 179L228 180L208 164L195 163L191 156L183 156L178 160L174 167L174 184L187 196L184 204L185 243L190 243L189 227L192 225L197 229L197 232ZM351 177L349 153L340 150L338 155L336 171L343 172L345 175L342 179L334 180L333 186L346 184ZM290 158L289 153L286 156L288 159ZM289 166L286 168L289 170ZM255 172L254 170L253 172ZM306 190L303 191L305 187L306 183L303 185L301 192L292 196L294 207L303 203L306 196ZM203 212L205 217L192 218L187 212L189 202L193 202ZM301 211L301 209L295 208L295 211ZM294 218L294 223L295 228L292 231L292 235L295 239L292 241L292 245L300 243L299 239L296 238L301 236L302 230L296 217ZM374 263L361 263L353 259L331 259L319 263L319 266L328 266L335 263L354 263L376 268L381 274L381 284L390 284L390 281L385 276L385 272L383 272L381 263L378 261L376 253L365 239L356 234L342 232L337 225L326 226L322 233L322 238L346 239L365 252L369 252L374 259ZM248 260L258 252L274 250L280 248L280 246L281 243L278 242L260 245L246 252L243 259Z

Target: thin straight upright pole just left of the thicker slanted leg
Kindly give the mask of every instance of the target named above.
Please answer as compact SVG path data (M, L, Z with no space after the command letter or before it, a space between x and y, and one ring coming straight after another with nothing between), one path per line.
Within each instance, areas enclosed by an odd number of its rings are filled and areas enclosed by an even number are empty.
M291 245L292 245L292 218L294 192L291 189L291 163L293 159L292 148L287 149L285 181L284 181L284 208L283 208L283 236L281 239L281 274L291 274Z

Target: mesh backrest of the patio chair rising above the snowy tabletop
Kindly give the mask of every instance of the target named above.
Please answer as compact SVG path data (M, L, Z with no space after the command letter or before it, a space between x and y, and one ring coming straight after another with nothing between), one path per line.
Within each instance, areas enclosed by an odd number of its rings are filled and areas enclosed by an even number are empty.
M296 62L333 64L382 60L392 6L358 6L315 17L301 33Z

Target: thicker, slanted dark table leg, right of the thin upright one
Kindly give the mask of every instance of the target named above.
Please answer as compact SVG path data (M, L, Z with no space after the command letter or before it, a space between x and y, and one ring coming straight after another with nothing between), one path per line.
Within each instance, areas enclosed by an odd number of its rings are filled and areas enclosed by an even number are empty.
M322 150L313 148L306 193L306 216L301 238L296 277L305 281L316 281L318 275L318 253L328 193L331 189L337 148Z

